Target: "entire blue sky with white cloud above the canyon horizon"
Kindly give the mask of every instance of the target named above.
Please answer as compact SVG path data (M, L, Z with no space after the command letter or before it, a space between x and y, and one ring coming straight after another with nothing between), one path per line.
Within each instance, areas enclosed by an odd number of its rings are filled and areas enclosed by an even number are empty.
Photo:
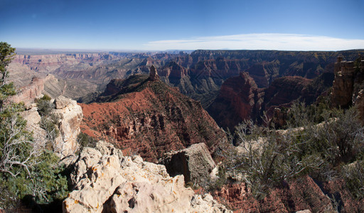
M364 0L0 0L0 41L77 50L364 49Z

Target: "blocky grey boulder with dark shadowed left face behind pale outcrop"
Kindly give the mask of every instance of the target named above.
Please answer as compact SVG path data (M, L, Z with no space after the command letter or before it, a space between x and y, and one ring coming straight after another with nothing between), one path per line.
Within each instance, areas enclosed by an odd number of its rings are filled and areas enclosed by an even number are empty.
M159 163L166 166L171 177L183 175L185 182L200 184L215 177L217 171L205 143L197 143L181 151L166 153Z

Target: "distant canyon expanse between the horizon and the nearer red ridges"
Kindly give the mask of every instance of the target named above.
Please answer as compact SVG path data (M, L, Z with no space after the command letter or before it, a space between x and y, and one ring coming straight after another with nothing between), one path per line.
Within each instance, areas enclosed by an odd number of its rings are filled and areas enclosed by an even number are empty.
M200 101L206 109L218 96L223 82L242 71L248 72L257 86L263 88L277 77L313 79L323 72L332 72L339 55L355 60L358 53L363 51L196 50L190 54L17 55L9 70L11 80L17 85L27 85L34 75L54 75L65 97L79 99L90 92L102 92L112 79L148 74L148 67L154 65L163 82L178 87L182 94Z

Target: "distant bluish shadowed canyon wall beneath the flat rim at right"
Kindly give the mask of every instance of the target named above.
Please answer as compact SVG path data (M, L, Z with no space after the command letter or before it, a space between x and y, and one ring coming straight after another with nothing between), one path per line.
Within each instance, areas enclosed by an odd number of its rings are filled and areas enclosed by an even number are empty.
M275 78L301 76L314 79L332 72L338 55L353 60L360 50L299 52L276 50L196 50L172 58L159 70L161 80L178 87L207 108L225 80L249 72L258 87L268 87Z

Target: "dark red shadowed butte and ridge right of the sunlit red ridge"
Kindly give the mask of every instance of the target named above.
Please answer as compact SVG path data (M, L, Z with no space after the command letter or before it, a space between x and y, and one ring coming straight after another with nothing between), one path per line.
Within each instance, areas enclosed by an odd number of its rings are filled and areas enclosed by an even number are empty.
M244 72L224 82L208 112L220 126L229 129L245 119L261 121L263 111L267 111L270 119L275 108L289 107L297 99L307 104L314 102L329 87L331 77L330 73L315 80L299 76L279 77L269 87L259 89Z

